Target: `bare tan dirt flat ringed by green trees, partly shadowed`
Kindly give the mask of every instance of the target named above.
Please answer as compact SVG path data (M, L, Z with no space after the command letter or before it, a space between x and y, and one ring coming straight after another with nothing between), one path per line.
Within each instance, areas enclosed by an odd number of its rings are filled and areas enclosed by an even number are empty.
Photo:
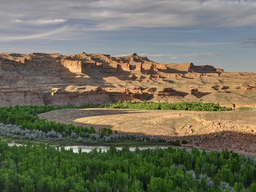
M38 115L65 124L111 128L118 133L188 140L184 147L256 155L256 111L60 109Z

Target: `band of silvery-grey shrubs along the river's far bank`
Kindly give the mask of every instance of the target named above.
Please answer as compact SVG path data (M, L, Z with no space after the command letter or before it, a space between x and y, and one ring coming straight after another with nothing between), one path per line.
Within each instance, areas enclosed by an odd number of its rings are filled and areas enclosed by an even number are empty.
M91 127L91 130L94 130L93 127ZM115 131L114 134L112 134L112 129L103 128L99 130L97 133L88 133L88 132L82 132L81 134L76 134L75 131L71 130L71 133L68 135L66 132L56 132L54 130L43 132L39 131L38 129L21 129L20 125L12 125L12 124L3 124L0 123L0 135L6 136L6 137L12 137L12 138L24 138L28 140L36 140L36 141L68 141L72 140L79 144L101 144L101 143L109 143L109 142L130 142L130 141L136 141L136 142L143 142L145 145L147 142L150 143L160 143L168 142L169 144L180 146L179 140L168 140L162 138L161 136L149 136L144 134L117 134L117 131ZM181 143L184 143L186 140L182 140Z

